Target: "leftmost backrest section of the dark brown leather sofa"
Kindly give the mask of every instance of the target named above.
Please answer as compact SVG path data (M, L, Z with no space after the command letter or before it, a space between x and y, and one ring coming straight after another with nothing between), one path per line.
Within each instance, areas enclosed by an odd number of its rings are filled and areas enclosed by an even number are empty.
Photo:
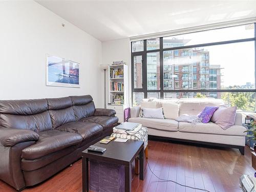
M52 130L47 100L1 100L0 125L35 132Z

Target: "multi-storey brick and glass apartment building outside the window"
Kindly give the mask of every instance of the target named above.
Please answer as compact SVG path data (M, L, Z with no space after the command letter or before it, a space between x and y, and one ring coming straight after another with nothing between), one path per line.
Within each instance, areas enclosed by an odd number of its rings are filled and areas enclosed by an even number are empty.
M184 46L189 40L170 39L165 44ZM152 44L152 43L151 43ZM156 44L152 44L156 45ZM209 51L198 48L163 51L163 89L193 90L221 89L221 67L210 65ZM147 90L160 90L159 52L147 53ZM159 97L159 93L151 93ZM165 93L165 98L195 97L194 92ZM206 97L221 98L220 93L204 93Z

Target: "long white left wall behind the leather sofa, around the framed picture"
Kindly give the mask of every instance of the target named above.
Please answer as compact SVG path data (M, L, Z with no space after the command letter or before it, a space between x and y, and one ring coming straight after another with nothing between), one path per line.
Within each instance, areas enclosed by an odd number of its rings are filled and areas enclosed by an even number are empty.
M0 2L0 24L0 99L91 94L103 107L101 41L33 1ZM47 53L80 63L80 88L46 86Z

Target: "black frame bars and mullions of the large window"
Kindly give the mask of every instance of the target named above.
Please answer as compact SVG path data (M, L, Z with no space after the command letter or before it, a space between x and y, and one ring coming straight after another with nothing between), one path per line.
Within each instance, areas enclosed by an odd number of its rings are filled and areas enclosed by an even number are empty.
M249 24L249 23L248 23ZM160 92L160 99L163 99L164 93L179 93L179 92L197 92L197 93L222 93L222 92L230 92L230 93L239 93L239 92L256 92L256 23L250 23L254 24L254 37L251 38L244 38L244 39L236 39L236 40L226 40L226 41L217 41L217 42L209 42L206 44L197 44L197 45L189 45L189 46L182 46L182 47L173 47L173 48L163 48L163 37L160 38L160 49L155 49L155 50L146 50L146 41L147 39L144 39L144 50L140 52L132 52L131 51L131 57L132 57L132 62L131 62L131 68L132 68L132 95L133 92L144 92L144 98L147 98L147 93L148 92ZM242 24L242 25L247 25L247 24ZM242 26L242 25L237 25L237 26ZM228 26L228 27L233 27L233 26ZM228 28L228 27L220 27L220 28ZM217 28L217 29L220 29ZM216 30L216 29L208 29L208 30ZM201 30L201 31L208 31L208 30ZM201 32L198 31L198 32ZM192 33L192 32L189 32ZM181 34L186 34L186 33L181 33ZM178 35L181 35L178 34ZM184 50L184 49L190 49L190 48L197 48L197 47L207 47L207 46L215 46L215 45L226 45L226 44L233 44L236 42L246 42L246 41L254 41L254 86L255 89L174 89L174 90L164 90L164 72L163 72L163 51L173 51L175 50L178 51L178 55L180 53L179 50ZM131 41L131 50L132 50L132 42ZM160 52L160 90L147 90L147 78L146 78L146 54L149 52ZM176 51L176 52L177 52ZM136 55L142 55L142 73L145 74L142 77L142 89L134 89L134 63L133 63L133 57ZM174 68L174 73L177 72L175 71ZM193 78L193 77L192 77ZM175 87L175 80L174 79L174 87ZM192 85L193 86L193 85ZM132 97L132 103L133 103L133 97Z

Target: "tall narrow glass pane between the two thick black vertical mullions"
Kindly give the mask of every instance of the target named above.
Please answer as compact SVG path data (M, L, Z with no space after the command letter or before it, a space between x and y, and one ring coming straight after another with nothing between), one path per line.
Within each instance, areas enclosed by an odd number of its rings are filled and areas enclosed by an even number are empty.
M160 53L147 53L147 90L160 90Z

